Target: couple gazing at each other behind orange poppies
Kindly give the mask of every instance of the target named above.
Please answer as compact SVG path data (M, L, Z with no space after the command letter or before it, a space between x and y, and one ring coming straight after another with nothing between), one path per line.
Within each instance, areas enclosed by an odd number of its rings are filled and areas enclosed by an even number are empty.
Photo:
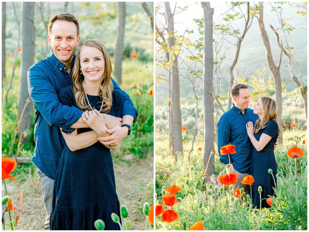
M260 208L259 186L262 187L262 208L269 208L266 200L274 195L273 187L277 186L277 164L274 150L281 130L277 123L277 103L269 97L261 97L253 105L254 110L248 108L250 93L248 86L236 84L231 89L234 100L233 107L226 111L218 122L218 151L220 148L235 145L235 154L231 154L231 172L238 174L237 188L251 194L252 204ZM220 154L220 161L229 164L227 155ZM273 176L268 172L273 170ZM229 173L230 169L226 169ZM254 182L252 193L248 185L241 183L243 177L252 175Z

